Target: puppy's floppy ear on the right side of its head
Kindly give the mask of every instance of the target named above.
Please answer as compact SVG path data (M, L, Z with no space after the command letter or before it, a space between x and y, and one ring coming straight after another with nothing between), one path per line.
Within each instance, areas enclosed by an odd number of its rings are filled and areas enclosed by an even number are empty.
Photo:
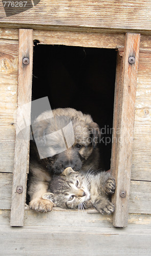
M99 125L95 122L89 123L89 131L92 136L93 147L95 148L101 135Z

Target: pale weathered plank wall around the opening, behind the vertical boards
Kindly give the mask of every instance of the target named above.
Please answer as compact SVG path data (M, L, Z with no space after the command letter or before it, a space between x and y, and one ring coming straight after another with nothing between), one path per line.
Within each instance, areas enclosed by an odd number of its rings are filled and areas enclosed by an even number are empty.
M147 2L146 2L147 3ZM51 36L53 34L53 36ZM76 40L74 40L76 35ZM92 38L91 38L92 35ZM0 225L2 250L26 255L150 255L150 156L151 156L151 47L150 37L141 35L128 227L116 229L113 217L93 211L55 209L49 214L25 210L24 228L10 227L12 172L18 76L18 30L0 29ZM33 31L34 39L46 44L118 48L124 34ZM97 37L97 39L96 39ZM70 38L72 40L70 41ZM84 38L84 40L83 40ZM100 43L98 44L98 39ZM70 41L70 42L69 42ZM92 45L91 45L92 44ZM90 214L90 212L92 212ZM143 215L145 214L145 215ZM10 243L8 243L8 240ZM6 246L6 244L8 246ZM92 249L93 248L93 249ZM107 248L107 249L106 249Z

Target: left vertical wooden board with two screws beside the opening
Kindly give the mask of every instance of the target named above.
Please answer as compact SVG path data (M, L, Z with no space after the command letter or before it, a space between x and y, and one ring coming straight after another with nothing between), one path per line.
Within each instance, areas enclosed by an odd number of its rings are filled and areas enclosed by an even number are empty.
M33 30L19 29L18 92L11 226L24 225L32 94ZM28 61L23 63L23 59ZM27 60L27 59L26 59Z

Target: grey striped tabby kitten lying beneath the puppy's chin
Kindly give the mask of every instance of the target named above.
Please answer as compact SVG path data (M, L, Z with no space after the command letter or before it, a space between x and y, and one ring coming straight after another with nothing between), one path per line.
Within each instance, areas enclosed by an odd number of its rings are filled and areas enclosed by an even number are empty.
M54 206L84 209L95 207L101 214L111 214L114 204L107 195L115 191L115 179L108 172L88 174L74 172L71 167L63 170L62 175L54 175L48 193L43 199L50 200Z

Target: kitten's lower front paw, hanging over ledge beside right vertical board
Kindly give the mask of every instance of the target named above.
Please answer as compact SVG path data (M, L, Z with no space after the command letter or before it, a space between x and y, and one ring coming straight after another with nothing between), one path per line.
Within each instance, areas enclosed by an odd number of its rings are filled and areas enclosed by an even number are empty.
M101 214L112 214L114 212L114 204L107 199L98 198L95 203L94 207L101 213Z

